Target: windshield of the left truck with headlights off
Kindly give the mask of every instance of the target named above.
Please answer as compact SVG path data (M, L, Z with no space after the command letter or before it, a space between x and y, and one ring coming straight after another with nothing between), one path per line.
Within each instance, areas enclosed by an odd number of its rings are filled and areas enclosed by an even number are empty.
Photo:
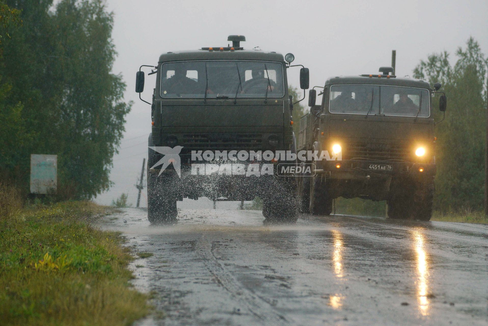
M283 65L270 61L179 61L161 65L161 97L283 97ZM266 94L267 90L267 94Z

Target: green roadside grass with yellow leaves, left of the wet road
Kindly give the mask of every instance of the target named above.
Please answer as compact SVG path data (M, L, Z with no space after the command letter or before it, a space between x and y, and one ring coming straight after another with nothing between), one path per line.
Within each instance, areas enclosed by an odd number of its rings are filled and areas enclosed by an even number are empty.
M65 202L1 217L2 325L130 325L149 313L148 296L128 282L120 234L89 224L105 214Z

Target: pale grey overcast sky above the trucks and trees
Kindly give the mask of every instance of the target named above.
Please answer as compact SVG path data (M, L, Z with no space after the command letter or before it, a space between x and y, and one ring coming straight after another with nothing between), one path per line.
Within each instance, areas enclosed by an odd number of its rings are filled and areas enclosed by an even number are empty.
M411 76L415 65L434 52L447 50L455 60L454 52L469 36L488 53L487 0L108 0L107 7L115 14L112 37L119 53L113 72L122 73L125 100L134 105L114 157L110 179L115 185L96 199L102 204L122 192L130 203L136 201L134 184L147 156L151 108L134 92L135 72L141 64L157 65L161 53L225 46L228 35L240 34L247 40L244 48L293 53L295 64L310 69L311 87L324 85L329 76L377 73L390 65L392 49L398 76ZM288 82L298 85L298 75L298 67L288 69ZM155 76L146 76L142 96L147 101Z

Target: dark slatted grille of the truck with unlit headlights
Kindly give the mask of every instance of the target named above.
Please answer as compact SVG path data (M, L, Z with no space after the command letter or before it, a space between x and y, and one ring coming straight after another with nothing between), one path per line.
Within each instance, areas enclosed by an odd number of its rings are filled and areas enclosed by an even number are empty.
M182 146L190 150L242 150L261 149L263 135L260 133L191 133L183 134Z

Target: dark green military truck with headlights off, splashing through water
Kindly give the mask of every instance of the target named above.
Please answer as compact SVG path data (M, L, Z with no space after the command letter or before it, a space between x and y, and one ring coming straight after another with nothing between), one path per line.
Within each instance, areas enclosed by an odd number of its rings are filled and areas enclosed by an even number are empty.
M151 104L147 162L151 223L174 221L177 201L183 198L250 201L256 196L263 199L265 220L296 221L296 178L277 175L280 160L273 158L273 171L261 176L234 170L231 175L220 173L241 151L295 151L286 74L296 66L290 65L294 56L289 53L284 58L259 47L244 49L240 42L245 37L240 35L227 41L232 45L163 53L157 65L142 65L136 74L136 92ZM157 74L152 102L141 97L142 67L152 68L148 75ZM308 69L302 66L304 98L308 80ZM210 173L202 175L201 169L195 173L194 168L202 163L205 151L216 156L204 158L204 170ZM217 156L224 151L229 157ZM244 170L256 163L257 156L241 157Z

